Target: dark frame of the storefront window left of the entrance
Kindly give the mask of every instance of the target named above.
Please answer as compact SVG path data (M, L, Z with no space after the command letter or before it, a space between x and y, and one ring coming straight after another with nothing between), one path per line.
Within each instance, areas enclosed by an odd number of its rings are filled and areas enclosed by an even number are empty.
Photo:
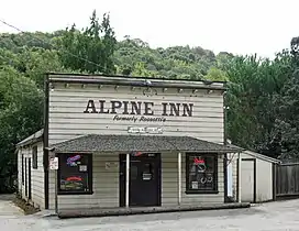
M88 156L88 187L89 191L67 191L60 190L60 176L62 176L62 156L63 155L74 155L75 153L57 153L56 157L58 157L58 170L57 170L57 195L92 195L93 194L93 169L92 169L92 153L76 153L78 155Z

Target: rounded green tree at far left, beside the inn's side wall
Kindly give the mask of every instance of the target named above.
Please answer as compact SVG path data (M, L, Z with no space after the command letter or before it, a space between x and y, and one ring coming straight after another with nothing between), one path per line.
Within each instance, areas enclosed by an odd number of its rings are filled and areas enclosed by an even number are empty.
M9 66L0 67L0 193L12 191L15 144L41 129L43 94L34 81Z

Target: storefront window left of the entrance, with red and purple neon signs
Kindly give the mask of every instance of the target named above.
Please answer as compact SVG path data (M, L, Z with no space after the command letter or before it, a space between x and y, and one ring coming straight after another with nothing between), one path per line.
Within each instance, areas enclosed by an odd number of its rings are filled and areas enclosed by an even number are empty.
M59 194L92 194L92 155L59 154Z

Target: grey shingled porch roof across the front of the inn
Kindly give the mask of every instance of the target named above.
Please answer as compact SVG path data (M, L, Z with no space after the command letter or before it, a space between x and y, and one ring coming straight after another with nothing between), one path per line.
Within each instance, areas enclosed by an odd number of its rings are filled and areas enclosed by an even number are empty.
M201 152L236 153L241 148L230 147L190 136L163 135L101 135L88 134L54 144L49 147L55 153L91 152Z

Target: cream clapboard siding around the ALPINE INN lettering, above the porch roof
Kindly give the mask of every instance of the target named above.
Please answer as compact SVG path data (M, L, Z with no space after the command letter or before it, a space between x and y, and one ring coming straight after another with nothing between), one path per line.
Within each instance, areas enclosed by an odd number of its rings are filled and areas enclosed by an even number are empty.
M165 135L181 135L182 133L208 140L217 143L223 141L223 96L220 91L207 94L206 90L199 90L192 94L192 90L178 92L177 89L163 91L156 89L157 95L144 95L144 87L137 87L134 90L131 87L103 86L98 89L97 85L65 85L55 84L53 91L49 91L49 117L48 117L48 139L49 144L63 142L80 134L128 134L128 127L152 125L163 127ZM153 101L152 108L155 112L152 117L159 117L162 113L162 102L193 103L192 117L164 117L166 122L133 122L133 121L113 121L114 114L84 113L88 100L95 100L96 107L98 100L107 100L109 107L110 100L120 101ZM119 114L121 116L121 114ZM142 116L134 116L141 118Z

